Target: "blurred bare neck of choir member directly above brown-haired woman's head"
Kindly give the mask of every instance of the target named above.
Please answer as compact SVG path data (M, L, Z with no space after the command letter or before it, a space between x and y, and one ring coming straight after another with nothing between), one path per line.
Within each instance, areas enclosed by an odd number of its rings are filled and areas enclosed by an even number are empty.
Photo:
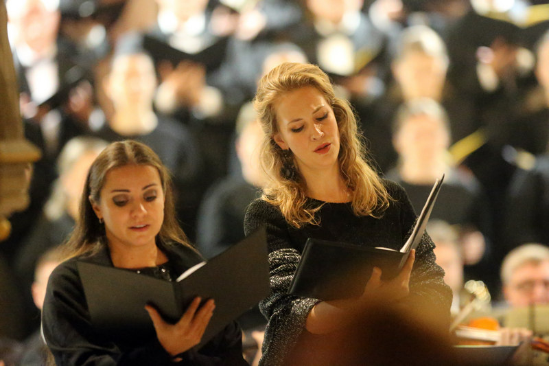
M117 109L110 119L110 128L123 136L147 135L158 125L158 118L150 109Z

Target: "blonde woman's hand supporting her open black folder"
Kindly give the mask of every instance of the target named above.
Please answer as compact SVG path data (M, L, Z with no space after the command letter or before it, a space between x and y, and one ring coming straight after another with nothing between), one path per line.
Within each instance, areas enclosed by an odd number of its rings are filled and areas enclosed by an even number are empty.
M414 266L414 260L416 258L416 251L412 249L408 260L401 268L397 277L389 279L388 281L382 280L382 270L378 267L374 267L372 276L370 277L364 293L360 297L360 301L363 304L374 304L375 302L393 302L400 300L410 293L410 275L412 274L412 268Z

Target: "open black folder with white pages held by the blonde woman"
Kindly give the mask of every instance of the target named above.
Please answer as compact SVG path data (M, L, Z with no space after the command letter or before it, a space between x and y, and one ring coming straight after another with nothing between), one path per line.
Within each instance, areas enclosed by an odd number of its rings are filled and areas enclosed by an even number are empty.
M288 293L320 300L347 299L362 295L374 266L381 268L382 279L395 277L410 251L421 242L443 179L444 175L434 183L412 233L400 251L309 238Z

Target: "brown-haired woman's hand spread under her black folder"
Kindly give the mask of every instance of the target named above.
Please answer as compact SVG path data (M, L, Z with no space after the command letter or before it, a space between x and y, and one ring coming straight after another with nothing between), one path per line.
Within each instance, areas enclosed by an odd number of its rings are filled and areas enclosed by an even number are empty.
M190 350L200 343L215 304L213 299L209 299L200 309L198 306L200 306L200 297L195 297L183 317L175 324L165 322L152 306L145 306L156 330L156 337L164 350L172 356Z

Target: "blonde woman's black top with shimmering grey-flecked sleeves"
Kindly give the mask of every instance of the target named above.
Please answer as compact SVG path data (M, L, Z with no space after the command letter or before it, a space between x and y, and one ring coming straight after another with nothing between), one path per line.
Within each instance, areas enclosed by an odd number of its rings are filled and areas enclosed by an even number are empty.
M394 201L390 201L381 218L355 216L351 203L325 203L316 213L320 225L307 224L297 229L286 222L278 207L266 201L258 199L248 207L244 231L249 234L266 225L269 251L271 293L259 303L261 312L268 319L262 365L288 365L289 359L294 357L292 352L300 348L303 336L313 337L305 330L305 321L320 300L287 295L307 238L396 250L404 245L416 215L402 187L391 181L384 181L384 184ZM309 204L317 206L321 203L309 198ZM417 248L406 302L414 308L429 311L433 317L447 318L449 323L452 292L443 282L442 268L434 262L433 248L432 240L424 234ZM325 347L329 345L322 340L319 343ZM309 355L314 358L322 352L317 348ZM318 361L327 364L325 360Z

